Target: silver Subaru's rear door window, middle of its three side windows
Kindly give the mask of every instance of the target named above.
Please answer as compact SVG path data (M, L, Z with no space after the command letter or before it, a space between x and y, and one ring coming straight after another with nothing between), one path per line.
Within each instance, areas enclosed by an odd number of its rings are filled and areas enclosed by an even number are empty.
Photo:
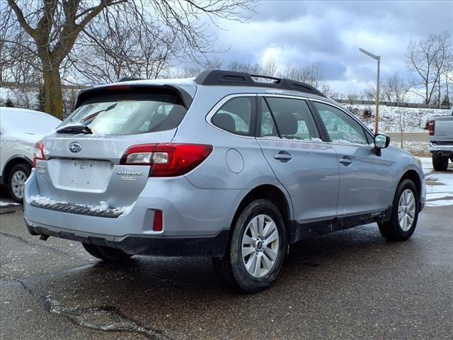
M313 116L309 110L308 105L305 101L292 98L277 98L268 97L265 98L267 106L263 105L263 117L266 118L266 110L270 111L273 115L276 129L273 126L272 135L278 134L282 138L296 139L296 140L312 140L314 138L319 139L319 132L314 123ZM265 119L262 121L262 134L270 133L270 125L263 127L263 122L269 122L270 120ZM276 130L276 131L275 131Z

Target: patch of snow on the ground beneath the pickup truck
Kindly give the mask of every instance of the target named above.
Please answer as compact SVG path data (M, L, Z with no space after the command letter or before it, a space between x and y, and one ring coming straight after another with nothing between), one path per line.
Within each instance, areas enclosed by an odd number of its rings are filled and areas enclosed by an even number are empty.
M447 171L434 171L431 158L420 157L426 181L426 206L453 205L453 164Z

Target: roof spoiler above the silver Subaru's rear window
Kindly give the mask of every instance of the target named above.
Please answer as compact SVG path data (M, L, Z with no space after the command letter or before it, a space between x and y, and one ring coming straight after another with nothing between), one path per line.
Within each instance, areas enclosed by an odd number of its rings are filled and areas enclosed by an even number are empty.
M93 87L91 89L86 89L80 91L77 96L76 104L74 110L81 106L81 103L86 101L86 99L93 96L102 96L103 94L112 94L113 91L133 91L137 90L140 92L146 92L146 90L158 90L159 92L174 94L180 98L185 108L189 108L192 104L193 98L188 94L187 91L182 89L177 85L151 85L151 84L112 84L99 87Z

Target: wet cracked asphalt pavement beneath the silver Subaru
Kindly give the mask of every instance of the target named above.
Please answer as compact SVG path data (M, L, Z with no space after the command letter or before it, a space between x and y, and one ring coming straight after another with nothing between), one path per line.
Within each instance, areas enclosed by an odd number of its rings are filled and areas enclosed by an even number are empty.
M453 207L407 242L376 225L292 246L263 293L221 285L210 259L117 265L0 215L1 339L452 339Z

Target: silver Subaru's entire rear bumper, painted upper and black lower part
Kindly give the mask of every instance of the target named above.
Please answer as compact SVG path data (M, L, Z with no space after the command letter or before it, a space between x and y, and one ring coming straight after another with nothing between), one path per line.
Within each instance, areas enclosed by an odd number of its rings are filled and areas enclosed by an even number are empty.
M36 205L32 197L40 190L33 171L25 184L24 218L32 234L100 243L129 254L219 256L245 194L196 188L183 176L149 179L130 210L106 217L79 208L64 211L64 204L57 209ZM153 230L156 210L163 215L162 231Z

